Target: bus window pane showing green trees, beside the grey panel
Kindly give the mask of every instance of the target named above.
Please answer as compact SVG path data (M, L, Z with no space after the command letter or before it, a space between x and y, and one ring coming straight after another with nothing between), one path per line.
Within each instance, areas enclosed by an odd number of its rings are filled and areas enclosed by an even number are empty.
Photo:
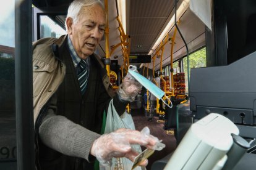
M193 52L189 55L189 69L191 68L200 68L206 67L206 49L203 47L202 49ZM185 83L186 83L186 91L188 92L188 84L187 84L187 57L183 58L183 70L185 73Z

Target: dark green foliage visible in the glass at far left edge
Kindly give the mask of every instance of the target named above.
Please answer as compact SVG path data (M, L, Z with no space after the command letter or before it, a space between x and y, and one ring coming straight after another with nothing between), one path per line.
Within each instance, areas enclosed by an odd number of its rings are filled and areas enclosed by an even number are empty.
M14 59L0 57L0 79L14 79Z

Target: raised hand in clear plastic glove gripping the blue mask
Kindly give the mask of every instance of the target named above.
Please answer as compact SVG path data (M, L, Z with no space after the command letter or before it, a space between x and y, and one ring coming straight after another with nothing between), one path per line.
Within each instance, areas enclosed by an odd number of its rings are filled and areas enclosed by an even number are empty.
M135 70L137 73L137 68ZM130 73L122 80L122 84L119 86L117 94L122 100L133 102L136 95L142 90L142 84L140 84Z

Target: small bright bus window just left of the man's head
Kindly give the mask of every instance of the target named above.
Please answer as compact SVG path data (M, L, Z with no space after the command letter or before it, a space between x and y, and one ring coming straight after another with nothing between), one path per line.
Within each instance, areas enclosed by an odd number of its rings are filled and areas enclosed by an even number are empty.
M67 33L61 26L51 20L48 16L40 15L40 38L59 38L63 34Z

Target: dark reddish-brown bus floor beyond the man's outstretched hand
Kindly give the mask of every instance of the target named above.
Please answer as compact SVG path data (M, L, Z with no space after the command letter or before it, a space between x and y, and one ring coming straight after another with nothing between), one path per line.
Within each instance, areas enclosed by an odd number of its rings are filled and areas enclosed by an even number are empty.
M143 127L148 126L150 129L150 134L158 137L158 139L163 140L163 144L166 145L161 151L155 151L153 155L148 158L147 169L151 169L152 164L173 152L176 148L176 139L173 133L163 129L163 121L158 119L158 116L154 115L153 121L148 121L147 114L145 114L145 109L142 108L132 108L131 110L132 118L134 119L135 129L141 131ZM142 147L144 150L145 147Z

